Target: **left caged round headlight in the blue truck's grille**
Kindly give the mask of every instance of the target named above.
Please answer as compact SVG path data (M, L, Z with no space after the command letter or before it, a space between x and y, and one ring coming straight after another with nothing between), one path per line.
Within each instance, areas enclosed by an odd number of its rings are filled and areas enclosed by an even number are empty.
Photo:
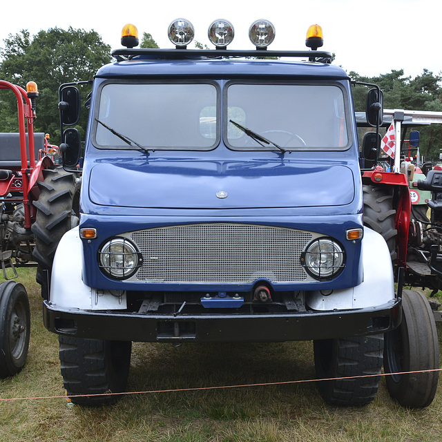
M141 253L126 238L112 238L99 251L99 267L111 278L131 278L141 265Z

